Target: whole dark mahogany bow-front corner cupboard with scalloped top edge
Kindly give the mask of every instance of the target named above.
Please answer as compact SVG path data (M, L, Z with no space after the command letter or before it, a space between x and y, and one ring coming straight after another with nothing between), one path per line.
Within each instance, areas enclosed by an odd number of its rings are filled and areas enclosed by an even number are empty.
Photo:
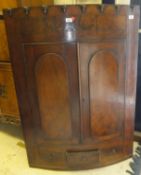
M130 157L139 8L18 8L4 19L29 164L88 169Z

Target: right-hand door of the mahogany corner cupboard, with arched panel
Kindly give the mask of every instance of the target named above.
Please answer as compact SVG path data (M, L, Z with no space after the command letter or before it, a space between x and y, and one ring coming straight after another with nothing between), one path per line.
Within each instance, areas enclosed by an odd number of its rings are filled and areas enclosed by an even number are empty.
M124 133L124 41L79 45L83 137L97 141Z

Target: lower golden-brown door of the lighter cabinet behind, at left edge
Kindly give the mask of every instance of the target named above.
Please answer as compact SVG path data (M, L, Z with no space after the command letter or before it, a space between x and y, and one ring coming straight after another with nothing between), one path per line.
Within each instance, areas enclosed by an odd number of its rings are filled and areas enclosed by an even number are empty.
M13 73L9 63L0 64L0 112L1 115L19 118Z

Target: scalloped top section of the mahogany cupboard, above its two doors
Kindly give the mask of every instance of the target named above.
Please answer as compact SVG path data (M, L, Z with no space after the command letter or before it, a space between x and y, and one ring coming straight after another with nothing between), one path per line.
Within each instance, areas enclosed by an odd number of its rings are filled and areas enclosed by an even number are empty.
M70 42L125 38L139 13L139 6L54 5L5 9L4 19L25 43Z

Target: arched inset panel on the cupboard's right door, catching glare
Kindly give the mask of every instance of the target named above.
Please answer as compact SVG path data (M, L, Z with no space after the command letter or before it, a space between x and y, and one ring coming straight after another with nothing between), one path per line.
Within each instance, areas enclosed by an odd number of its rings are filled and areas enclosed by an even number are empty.
M112 137L119 134L121 114L119 68L110 51L97 52L89 62L91 133L94 137Z

